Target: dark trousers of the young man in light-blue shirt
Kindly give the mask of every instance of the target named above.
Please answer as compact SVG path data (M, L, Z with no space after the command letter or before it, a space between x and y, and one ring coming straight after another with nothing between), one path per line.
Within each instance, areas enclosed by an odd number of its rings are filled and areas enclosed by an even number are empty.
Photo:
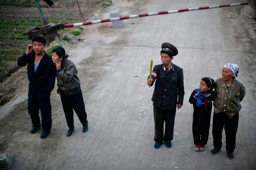
M33 125L40 123L39 109L42 117L43 131L51 130L51 92L44 88L35 88L29 84L28 106L29 115Z

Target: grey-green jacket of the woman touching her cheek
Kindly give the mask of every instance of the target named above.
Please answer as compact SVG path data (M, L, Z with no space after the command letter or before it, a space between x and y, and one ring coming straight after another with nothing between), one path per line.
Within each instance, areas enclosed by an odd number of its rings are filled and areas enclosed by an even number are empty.
M81 90L78 71L74 62L65 59L61 68L57 70L57 86L66 95L72 95Z

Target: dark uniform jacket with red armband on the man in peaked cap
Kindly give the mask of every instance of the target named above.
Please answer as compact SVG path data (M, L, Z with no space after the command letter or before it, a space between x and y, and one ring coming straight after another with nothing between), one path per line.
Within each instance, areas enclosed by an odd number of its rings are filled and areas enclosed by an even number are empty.
M176 109L176 105L183 105L184 81L182 68L172 64L170 77L165 82L164 65L155 65L152 71L152 84L155 89L152 96L153 105L162 109Z

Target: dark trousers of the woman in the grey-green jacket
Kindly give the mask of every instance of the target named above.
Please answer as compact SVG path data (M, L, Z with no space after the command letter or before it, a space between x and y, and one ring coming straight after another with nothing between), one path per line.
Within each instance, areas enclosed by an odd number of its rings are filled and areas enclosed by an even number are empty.
M85 111L82 91L80 90L79 92L72 95L66 95L60 92L60 99L69 129L74 129L73 109L77 114L81 124L85 126L87 122L87 114Z

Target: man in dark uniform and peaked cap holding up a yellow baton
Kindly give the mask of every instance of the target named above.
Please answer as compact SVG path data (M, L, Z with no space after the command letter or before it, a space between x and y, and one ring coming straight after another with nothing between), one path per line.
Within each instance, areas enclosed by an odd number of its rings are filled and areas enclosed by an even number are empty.
M154 105L154 146L156 149L160 148L163 141L167 148L172 146L176 107L181 108L185 94L183 70L172 63L173 56L178 54L178 50L170 43L163 43L160 54L163 64L155 65L152 79L148 77L147 80L147 84L150 86L153 86L155 82L151 100Z

